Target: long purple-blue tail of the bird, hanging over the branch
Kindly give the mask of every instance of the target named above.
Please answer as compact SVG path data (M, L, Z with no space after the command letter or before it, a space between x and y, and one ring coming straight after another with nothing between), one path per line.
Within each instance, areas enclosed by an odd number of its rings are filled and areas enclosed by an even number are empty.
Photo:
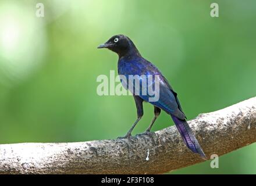
M183 141L187 145L187 147L192 152L198 153L202 159L206 159L204 151L202 151L202 148L199 145L197 138L195 138L195 135L193 134L187 121L178 119L175 116L172 116L172 119L173 119L174 123L176 124L176 127L178 128L180 134L182 135Z

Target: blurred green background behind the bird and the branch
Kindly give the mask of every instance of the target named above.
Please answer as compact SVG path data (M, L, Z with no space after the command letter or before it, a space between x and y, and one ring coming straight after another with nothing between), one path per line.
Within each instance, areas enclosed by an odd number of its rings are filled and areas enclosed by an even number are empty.
M37 2L44 17L36 17ZM210 16L212 2L219 17ZM97 46L128 35L165 74L188 119L255 96L256 2L1 1L0 144L74 142L125 135L136 119L131 96L98 96L100 74L118 56ZM117 73L117 71L116 71ZM141 133L153 117L133 131ZM173 125L162 113L153 130ZM256 144L172 173L256 174Z

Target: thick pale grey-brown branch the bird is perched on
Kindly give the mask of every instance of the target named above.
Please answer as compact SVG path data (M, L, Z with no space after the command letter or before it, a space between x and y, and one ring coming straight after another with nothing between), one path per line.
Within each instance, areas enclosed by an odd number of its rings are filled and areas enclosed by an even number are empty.
M256 141L256 97L189 121L209 158ZM202 162L175 126L130 139L0 145L0 173L155 174Z

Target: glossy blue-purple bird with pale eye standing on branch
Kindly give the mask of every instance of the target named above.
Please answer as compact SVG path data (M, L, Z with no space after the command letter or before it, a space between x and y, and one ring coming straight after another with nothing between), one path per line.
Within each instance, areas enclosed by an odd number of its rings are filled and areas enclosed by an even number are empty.
M137 120L133 123L132 127L123 138L131 137L131 131L133 131L133 128L136 126L138 121L140 121L141 117L143 117L143 102L150 102L154 106L154 118L152 119L150 126L147 128L145 133L150 133L153 124L160 115L161 110L163 110L168 115L170 115L174 121L180 135L182 135L186 146L192 152L200 155L202 159L206 159L204 151L202 150L200 144L197 141L197 138L195 138L193 131L186 121L187 117L182 110L182 106L180 105L179 99L177 98L177 93L170 86L168 80L163 76L161 71L159 71L158 68L153 65L153 63L149 62L147 59L141 56L133 41L131 41L130 38L126 35L119 34L109 38L105 44L99 45L98 48L107 48L118 54L119 76L122 75L128 77L131 75L145 75L143 78L147 78L147 80L149 76L159 77L159 88L157 92L159 98L157 101L150 101L152 96L148 93L141 94L141 91L139 91L139 94L134 94L133 92L133 98L137 108ZM127 89L128 83L122 82L122 84ZM133 90L136 89L134 84L135 83L133 82ZM154 80L152 81L152 84L155 84ZM139 88L142 88L141 83Z

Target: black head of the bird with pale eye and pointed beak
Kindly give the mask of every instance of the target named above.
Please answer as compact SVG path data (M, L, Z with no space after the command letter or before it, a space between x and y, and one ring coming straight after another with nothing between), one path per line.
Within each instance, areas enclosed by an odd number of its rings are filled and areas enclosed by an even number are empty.
M105 44L99 45L98 48L108 48L111 51L118 53L119 57L131 52L138 53L133 42L125 35L114 35L106 41Z

